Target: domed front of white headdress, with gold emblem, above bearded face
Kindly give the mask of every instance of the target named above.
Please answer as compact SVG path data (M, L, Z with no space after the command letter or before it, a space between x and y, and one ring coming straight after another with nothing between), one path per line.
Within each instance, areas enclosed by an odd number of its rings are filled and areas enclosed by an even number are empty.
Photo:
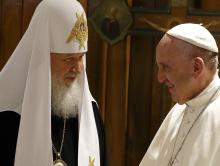
M86 14L76 0L45 0L48 13L50 52L83 53L87 51Z

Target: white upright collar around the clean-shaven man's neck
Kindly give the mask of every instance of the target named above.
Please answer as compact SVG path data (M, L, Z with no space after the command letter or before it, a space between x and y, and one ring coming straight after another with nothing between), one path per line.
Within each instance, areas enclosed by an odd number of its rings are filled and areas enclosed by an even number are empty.
M211 98L211 96L216 92L216 90L220 87L220 79L218 76L218 70L215 73L214 79L212 82L196 97L186 102L192 110L196 110L196 108L202 107L207 101ZM216 99L218 95L216 95L210 102Z

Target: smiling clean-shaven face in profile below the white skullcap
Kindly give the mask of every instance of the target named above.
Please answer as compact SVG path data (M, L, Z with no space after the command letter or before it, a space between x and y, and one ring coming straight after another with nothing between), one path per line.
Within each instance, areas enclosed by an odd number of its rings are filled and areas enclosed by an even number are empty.
M158 81L166 84L173 101L183 104L194 93L193 61L175 40L165 35L157 46Z

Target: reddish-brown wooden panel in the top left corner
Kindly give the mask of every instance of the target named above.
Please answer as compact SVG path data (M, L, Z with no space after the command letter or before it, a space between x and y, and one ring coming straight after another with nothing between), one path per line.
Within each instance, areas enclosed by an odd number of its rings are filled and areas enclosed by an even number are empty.
M4 64L21 38L22 0L3 0L1 3L1 56Z

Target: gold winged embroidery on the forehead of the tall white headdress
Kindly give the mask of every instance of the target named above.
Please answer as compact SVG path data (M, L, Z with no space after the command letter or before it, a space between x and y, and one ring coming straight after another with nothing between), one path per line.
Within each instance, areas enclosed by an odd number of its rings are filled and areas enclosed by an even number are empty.
M76 13L76 23L67 39L67 43L69 43L71 40L76 39L79 41L79 49L82 47L85 49L84 42L88 38L88 27L86 24L86 20L84 19L84 14L82 13L81 16Z

